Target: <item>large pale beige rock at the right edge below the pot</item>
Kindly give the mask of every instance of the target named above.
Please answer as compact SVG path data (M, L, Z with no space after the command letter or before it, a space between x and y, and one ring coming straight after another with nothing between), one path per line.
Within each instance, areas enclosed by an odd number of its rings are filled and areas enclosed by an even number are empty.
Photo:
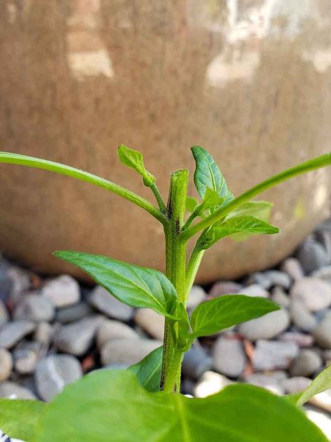
M300 299L309 311L323 310L331 305L331 285L318 278L302 278L293 285L290 297Z

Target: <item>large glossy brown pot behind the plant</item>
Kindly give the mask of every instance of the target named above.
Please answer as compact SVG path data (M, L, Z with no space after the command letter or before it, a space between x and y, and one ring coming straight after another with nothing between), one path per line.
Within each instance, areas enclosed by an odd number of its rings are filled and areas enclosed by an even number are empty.
M170 171L193 172L200 144L238 194L330 150L330 22L329 0L3 1L1 150L149 197L117 145L144 152L165 194ZM326 215L330 181L321 170L263 194L281 234L214 246L200 280L279 262ZM51 273L68 271L51 257L61 248L163 267L161 225L116 196L8 165L0 188L7 255Z

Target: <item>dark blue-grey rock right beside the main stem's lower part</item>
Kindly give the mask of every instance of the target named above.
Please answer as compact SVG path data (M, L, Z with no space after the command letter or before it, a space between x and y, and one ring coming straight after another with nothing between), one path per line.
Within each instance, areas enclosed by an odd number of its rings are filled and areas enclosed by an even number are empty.
M201 345L194 344L184 355L182 371L184 376L197 379L205 371L210 370L212 364L212 357L207 355L205 349Z

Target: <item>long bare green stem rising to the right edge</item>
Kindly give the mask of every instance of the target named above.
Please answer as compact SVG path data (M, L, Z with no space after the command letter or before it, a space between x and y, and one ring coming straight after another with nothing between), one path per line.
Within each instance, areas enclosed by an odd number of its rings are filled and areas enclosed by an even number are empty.
M326 155L322 155L321 157L317 157L310 161L304 162L299 166L295 166L281 173L277 173L277 175L268 178L262 183L259 183L258 185L247 190L247 192L244 192L239 197L233 199L232 201L230 201L230 203L227 206L224 206L214 211L212 215L207 216L207 218L205 218L204 220L197 222L193 226L189 227L189 229L184 229L182 231L181 238L184 241L188 241L189 238L191 238L191 236L197 234L200 230L203 230L206 227L209 227L210 225L214 224L214 222L221 220L221 218L224 218L226 215L228 215L228 213L233 211L235 208L241 206L246 201L249 201L253 197L256 197L256 195L260 194L261 192L264 192L270 187L282 183L283 181L288 180L289 178L294 178L295 176L300 175L302 173L313 171L315 169L320 169L321 167L329 166L330 164L331 164L331 153L328 153Z

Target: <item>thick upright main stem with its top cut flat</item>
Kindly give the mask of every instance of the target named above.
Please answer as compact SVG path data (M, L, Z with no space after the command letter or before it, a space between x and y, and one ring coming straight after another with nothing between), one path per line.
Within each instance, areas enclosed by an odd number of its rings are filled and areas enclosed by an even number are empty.
M165 264L166 274L179 297L179 302L186 303L186 241L179 234L184 226L186 192L189 172L181 169L170 176L168 198L168 222L165 224ZM163 365L161 390L179 392L183 352L177 345L177 325L165 318L163 338Z

